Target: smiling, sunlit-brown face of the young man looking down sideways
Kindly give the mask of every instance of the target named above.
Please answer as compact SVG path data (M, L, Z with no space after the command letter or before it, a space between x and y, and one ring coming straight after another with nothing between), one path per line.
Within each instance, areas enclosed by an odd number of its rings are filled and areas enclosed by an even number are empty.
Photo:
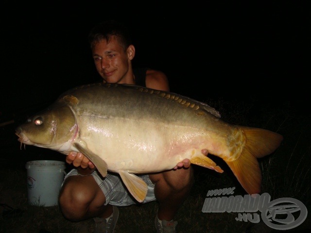
M92 49L95 67L106 83L126 83L131 59L113 36L109 43L97 42Z

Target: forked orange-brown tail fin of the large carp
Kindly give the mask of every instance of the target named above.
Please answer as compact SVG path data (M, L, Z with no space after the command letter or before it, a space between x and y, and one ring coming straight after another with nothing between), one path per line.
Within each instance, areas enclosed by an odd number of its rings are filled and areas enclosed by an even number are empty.
M240 127L246 136L245 145L236 159L224 159L233 174L248 194L261 190L261 170L258 158L274 152L283 140L283 136L272 131Z

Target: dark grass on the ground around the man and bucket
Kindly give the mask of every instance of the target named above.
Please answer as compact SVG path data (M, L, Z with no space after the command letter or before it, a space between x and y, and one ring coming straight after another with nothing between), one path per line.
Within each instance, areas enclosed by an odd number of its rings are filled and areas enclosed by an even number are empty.
M308 209L311 203L311 127L310 115L301 113L290 102L281 105L271 102L206 100L222 114L222 118L238 125L268 129L284 136L281 146L270 156L259 160L262 170L262 192L271 200L294 198ZM81 222L66 220L58 206L32 206L27 202L25 163L37 159L64 161L64 155L35 147L19 150L14 124L0 128L2 168L0 170L0 203L21 209L21 216L0 216L1 233L92 233L92 219ZM214 159L214 158L213 158ZM237 213L203 213L208 190L236 187L234 195L245 192L225 163L215 158L225 170L219 174L194 166L195 183L189 198L183 203L175 219L179 233L243 233L248 227L261 226L260 233L277 232L264 224L237 221ZM5 210L3 207L0 211ZM118 233L155 233L154 217L157 202L121 207L117 223ZM3 213L3 212L2 212ZM260 221L262 223L262 221ZM265 227L265 228L264 228ZM311 229L310 218L294 230ZM291 232L291 231L285 231Z

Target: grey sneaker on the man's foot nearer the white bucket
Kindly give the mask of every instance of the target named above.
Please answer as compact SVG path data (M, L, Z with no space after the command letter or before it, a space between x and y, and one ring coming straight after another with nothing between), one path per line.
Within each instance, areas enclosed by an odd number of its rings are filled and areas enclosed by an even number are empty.
M119 210L117 206L112 207L112 214L108 221L102 217L94 217L95 232L94 233L113 233L119 218Z

